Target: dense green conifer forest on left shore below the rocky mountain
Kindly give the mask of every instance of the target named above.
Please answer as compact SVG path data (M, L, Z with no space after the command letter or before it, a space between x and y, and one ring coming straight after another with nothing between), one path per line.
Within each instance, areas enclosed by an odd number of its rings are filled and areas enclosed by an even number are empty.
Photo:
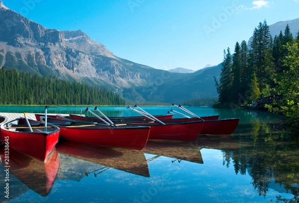
M0 105L125 105L106 89L3 67L0 87Z

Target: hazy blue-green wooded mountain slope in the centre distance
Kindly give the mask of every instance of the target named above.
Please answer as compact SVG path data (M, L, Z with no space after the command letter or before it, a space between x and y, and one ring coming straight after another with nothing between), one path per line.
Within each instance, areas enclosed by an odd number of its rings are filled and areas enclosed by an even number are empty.
M140 86L136 92L142 95L146 101L159 101L167 103L182 103L190 99L218 97L215 81L219 80L222 64L200 69L188 75L188 77L161 81L150 86ZM172 77L173 73L169 73Z

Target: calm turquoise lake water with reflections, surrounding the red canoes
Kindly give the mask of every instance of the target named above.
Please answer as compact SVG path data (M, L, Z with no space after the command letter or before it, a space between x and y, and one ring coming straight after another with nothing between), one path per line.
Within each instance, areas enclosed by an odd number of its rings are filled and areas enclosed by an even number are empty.
M171 108L144 109L166 114ZM86 107L49 107L48 113L78 114L81 109L85 114ZM0 202L299 201L298 144L280 127L282 117L248 110L188 109L200 116L238 117L240 123L230 136L201 135L190 143L149 141L143 151L59 143L46 163L10 150L9 199L0 166ZM43 110L0 107L0 112ZM126 107L100 110L108 116L137 115Z

